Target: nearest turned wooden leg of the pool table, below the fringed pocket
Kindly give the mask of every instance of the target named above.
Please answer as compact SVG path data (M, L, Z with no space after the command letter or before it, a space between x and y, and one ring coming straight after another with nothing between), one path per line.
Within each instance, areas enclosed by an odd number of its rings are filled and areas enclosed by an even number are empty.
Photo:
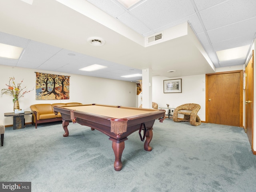
M114 168L116 171L120 171L122 169L122 154L124 151L124 141L117 143L112 141L112 148L114 150L115 154L115 162L114 162Z

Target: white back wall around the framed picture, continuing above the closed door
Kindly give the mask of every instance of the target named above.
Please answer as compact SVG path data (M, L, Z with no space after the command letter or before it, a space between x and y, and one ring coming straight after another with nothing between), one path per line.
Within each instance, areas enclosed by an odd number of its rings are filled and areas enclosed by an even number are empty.
M216 72L243 70L244 66L233 66L216 68ZM152 77L152 102L156 102L158 107L176 108L185 103L197 103L201 106L198 116L202 121L206 119L206 84L205 74L168 78L163 76ZM182 93L164 93L164 80L182 79ZM204 90L203 90L204 89Z

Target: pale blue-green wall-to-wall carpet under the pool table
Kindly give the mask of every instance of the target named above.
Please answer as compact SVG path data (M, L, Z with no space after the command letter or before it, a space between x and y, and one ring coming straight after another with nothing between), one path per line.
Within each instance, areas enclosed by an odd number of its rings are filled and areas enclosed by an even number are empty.
M239 127L156 120L153 150L128 136L123 168L114 170L108 136L71 124L6 128L0 181L32 182L32 192L255 192L256 156Z

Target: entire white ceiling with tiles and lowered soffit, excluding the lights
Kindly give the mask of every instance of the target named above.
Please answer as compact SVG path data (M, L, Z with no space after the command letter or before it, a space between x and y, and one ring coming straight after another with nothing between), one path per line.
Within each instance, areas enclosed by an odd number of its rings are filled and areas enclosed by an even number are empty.
M117 0L1 1L0 43L24 51L0 64L125 81L140 80L121 76L146 68L166 78L213 73L244 64L256 38L255 10L255 0L140 0L130 8ZM105 44L92 46L91 37ZM218 60L216 52L241 46L244 58ZM108 68L79 70L92 64Z

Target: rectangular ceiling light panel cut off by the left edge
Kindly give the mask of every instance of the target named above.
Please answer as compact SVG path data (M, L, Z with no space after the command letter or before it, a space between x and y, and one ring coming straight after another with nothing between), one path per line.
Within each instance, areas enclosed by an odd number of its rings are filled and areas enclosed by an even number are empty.
M8 59L20 58L23 48L0 43L0 57Z

